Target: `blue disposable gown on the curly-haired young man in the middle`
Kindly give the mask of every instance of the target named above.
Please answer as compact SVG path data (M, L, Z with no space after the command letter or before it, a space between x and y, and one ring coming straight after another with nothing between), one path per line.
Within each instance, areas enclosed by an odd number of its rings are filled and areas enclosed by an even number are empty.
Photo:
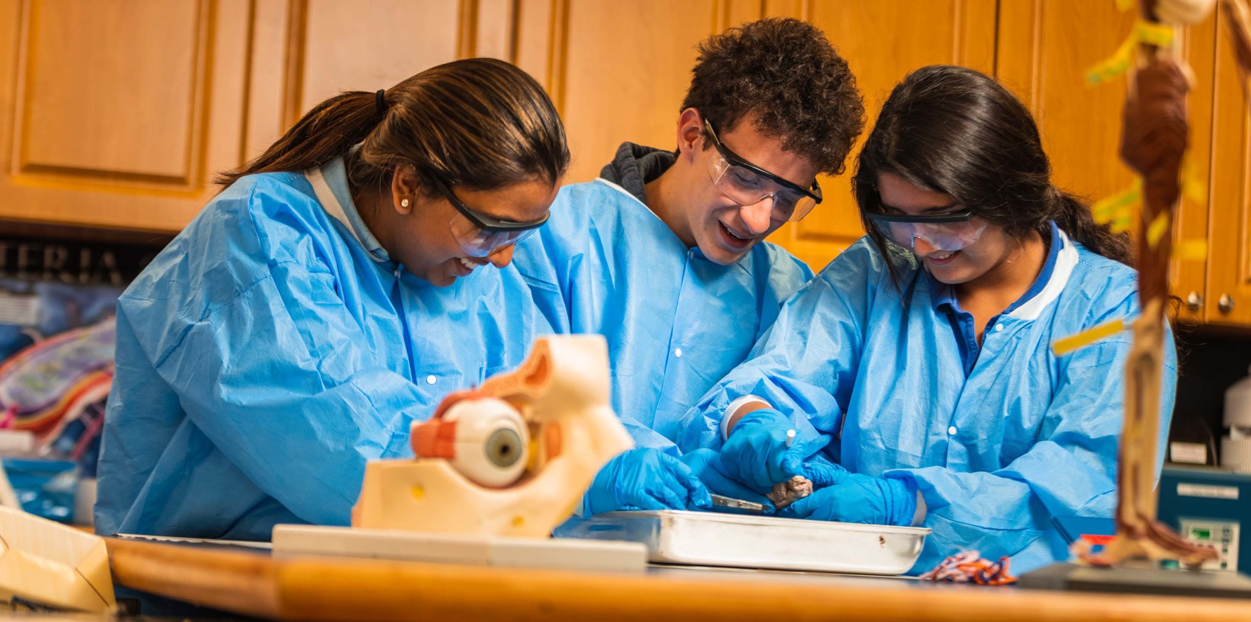
M560 189L513 257L558 332L608 340L613 407L639 447L677 453L687 410L743 361L812 271L762 242L723 266L599 179Z

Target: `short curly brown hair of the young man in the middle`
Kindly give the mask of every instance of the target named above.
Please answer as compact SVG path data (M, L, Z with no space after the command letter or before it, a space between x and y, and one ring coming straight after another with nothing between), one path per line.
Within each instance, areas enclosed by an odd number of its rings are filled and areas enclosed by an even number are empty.
M864 129L856 76L806 21L769 17L714 35L691 72L682 110L698 109L718 132L754 112L757 130L829 175L843 172Z

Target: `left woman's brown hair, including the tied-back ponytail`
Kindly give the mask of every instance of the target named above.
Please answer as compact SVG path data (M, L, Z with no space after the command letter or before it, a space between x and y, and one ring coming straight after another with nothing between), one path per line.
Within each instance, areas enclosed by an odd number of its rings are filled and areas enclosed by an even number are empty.
M228 186L255 172L301 171L347 155L354 187L385 190L395 166L417 169L423 192L432 179L472 190L522 181L557 185L569 167L560 117L528 74L494 59L458 60L387 90L348 91L309 110L246 165L221 174Z

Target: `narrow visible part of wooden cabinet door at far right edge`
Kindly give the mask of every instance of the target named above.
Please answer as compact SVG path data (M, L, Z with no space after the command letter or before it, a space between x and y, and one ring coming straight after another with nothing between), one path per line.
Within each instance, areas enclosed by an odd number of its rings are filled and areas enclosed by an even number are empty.
M1242 89L1228 36L1216 35L1203 318L1208 323L1247 326L1251 325L1251 120L1247 117L1251 102Z

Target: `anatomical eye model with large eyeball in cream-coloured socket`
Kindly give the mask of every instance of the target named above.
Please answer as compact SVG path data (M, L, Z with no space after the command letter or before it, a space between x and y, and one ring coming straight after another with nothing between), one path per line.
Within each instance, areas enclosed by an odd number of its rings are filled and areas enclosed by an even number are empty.
M449 395L413 426L413 460L365 467L353 527L545 538L595 472L633 447L597 335L535 342L517 371Z

